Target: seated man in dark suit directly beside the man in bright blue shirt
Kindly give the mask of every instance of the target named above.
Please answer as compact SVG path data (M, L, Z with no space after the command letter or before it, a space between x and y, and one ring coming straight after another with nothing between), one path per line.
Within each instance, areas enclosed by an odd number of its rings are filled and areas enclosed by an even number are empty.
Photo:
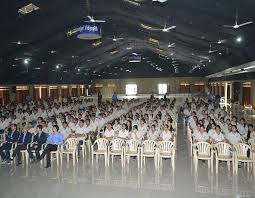
M40 153L42 145L47 140L47 134L42 131L42 125L38 125L36 127L36 135L34 136L34 141L32 145L28 148L29 158L32 159L32 162L40 159ZM34 157L33 153L35 153L36 158Z

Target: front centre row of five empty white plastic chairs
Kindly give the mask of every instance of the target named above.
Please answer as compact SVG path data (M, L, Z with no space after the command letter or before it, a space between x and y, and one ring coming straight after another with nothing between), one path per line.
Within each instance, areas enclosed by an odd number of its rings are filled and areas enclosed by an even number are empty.
M116 138L108 141L105 138L97 139L91 146L92 165L94 161L94 155L98 158L98 155L103 155L105 158L105 166L109 166L110 158L114 156L121 157L121 165L125 167L126 160L129 164L130 157L137 158L138 168L145 166L145 158L153 158L155 168L162 165L163 158L170 158L172 162L172 168L175 169L175 145L174 142L161 141L156 142L152 140L145 140L140 143L138 140L130 139L124 141Z

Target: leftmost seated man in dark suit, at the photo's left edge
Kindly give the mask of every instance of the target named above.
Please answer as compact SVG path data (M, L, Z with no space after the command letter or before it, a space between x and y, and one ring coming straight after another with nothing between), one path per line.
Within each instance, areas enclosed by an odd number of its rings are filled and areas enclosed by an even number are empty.
M5 164L6 161L10 162L10 150L12 149L12 144L16 143L19 140L20 133L17 131L17 125L12 124L10 131L7 134L6 142L0 147L0 155L2 158L2 164Z

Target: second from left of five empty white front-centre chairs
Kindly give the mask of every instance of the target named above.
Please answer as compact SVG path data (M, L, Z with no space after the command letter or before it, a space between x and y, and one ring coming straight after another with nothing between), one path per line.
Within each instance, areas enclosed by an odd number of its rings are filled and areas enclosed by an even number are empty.
M108 146L108 166L110 161L110 156L113 157L120 156L121 157L121 166L124 166L124 141L122 139L116 138L110 141Z

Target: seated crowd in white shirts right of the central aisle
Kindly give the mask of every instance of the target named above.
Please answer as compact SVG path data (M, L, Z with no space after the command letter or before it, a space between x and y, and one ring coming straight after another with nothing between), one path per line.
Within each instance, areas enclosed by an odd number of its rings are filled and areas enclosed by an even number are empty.
M183 106L194 142L227 142L231 145L255 140L253 125L244 118L240 120L230 115L226 107L221 108L216 102L205 102L202 99L188 99Z

